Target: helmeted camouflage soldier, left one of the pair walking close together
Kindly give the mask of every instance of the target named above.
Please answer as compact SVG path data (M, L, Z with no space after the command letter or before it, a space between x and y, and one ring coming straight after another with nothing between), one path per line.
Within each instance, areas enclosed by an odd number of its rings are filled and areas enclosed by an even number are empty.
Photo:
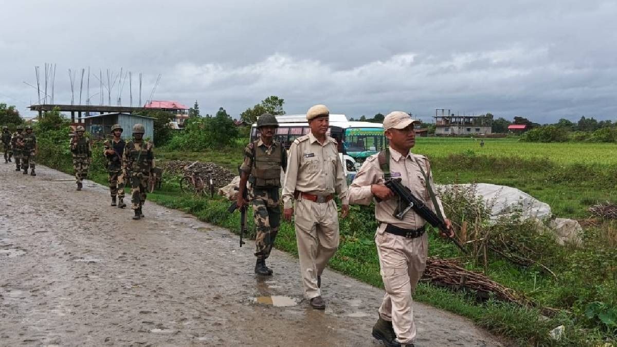
M118 196L118 207L124 208L124 185L125 180L122 175L122 154L124 153L125 141L122 140L122 127L114 124L112 127L112 140L106 140L103 155L107 158L107 172L109 173L109 192L112 195L112 206L116 206L116 196Z

